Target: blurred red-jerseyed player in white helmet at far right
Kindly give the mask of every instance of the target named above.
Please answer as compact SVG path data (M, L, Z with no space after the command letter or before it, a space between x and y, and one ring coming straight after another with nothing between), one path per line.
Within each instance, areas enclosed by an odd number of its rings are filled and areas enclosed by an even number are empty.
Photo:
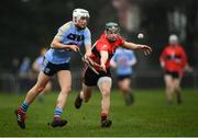
M178 44L177 35L169 35L169 44L164 48L160 57L161 67L164 70L166 94L168 104L173 103L173 94L176 93L177 104L182 103L180 81L185 71L193 71L187 61L186 53Z

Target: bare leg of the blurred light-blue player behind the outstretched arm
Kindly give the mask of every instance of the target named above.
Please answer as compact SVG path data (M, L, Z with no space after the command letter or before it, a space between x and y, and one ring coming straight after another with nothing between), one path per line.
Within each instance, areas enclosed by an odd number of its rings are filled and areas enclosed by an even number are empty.
M123 93L125 104L131 105L134 102L134 97L131 91L131 79L124 78L123 80L120 80L119 88Z

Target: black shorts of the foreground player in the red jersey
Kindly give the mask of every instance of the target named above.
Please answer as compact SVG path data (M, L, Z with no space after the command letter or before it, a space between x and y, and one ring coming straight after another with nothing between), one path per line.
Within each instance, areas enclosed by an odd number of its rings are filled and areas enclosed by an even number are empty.
M110 77L111 78L110 69L108 69L107 72L103 72L103 71L98 71L98 72L99 72L99 74L95 73L89 67L87 67L82 74L84 83L88 87L95 87L95 85L97 85L97 82L101 77Z

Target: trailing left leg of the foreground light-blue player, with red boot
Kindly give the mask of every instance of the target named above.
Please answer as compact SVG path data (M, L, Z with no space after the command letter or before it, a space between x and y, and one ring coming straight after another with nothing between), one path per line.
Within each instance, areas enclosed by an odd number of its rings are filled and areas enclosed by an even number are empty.
M40 72L36 84L28 92L24 102L21 107L15 111L18 118L18 124L21 128L25 128L25 113L29 108L29 105L34 101L36 95L42 92L48 82L50 77L43 72Z

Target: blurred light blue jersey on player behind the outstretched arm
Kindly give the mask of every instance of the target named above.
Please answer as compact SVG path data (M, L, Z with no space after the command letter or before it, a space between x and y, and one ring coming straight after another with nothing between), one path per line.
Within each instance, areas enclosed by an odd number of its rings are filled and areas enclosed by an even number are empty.
M134 51L124 48L118 48L111 60L118 65L118 76L130 76L133 73L132 66L136 64Z

